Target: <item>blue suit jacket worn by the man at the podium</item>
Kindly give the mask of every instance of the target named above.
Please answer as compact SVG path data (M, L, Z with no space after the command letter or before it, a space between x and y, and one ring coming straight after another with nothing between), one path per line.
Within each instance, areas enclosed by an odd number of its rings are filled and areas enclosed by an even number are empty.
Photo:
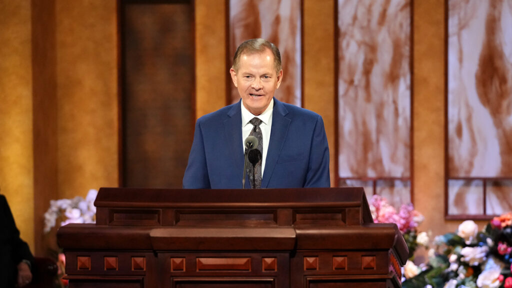
M197 120L183 188L242 188L241 103L226 106ZM330 187L329 147L324 121L312 111L274 98L261 188L301 187ZM245 188L250 188L248 178Z

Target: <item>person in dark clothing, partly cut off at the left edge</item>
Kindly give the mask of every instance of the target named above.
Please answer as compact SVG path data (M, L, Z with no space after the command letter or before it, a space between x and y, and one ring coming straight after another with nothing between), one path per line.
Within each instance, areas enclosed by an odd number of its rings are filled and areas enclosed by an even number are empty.
M33 261L29 246L19 238L7 199L0 194L0 287L23 287L30 283Z

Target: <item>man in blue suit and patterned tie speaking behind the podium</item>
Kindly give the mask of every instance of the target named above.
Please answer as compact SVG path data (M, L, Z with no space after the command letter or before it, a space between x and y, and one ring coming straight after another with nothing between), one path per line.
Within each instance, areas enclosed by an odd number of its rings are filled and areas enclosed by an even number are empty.
M251 160L257 163L246 164L244 188L329 187L322 117L274 98L283 78L278 48L264 39L247 40L229 72L241 99L197 120L183 188L242 188L249 135L259 145Z

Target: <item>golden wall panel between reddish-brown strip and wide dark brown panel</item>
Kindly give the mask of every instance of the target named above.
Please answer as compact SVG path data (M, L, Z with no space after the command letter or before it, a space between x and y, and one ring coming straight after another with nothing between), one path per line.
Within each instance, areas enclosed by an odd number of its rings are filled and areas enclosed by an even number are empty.
M56 0L55 9L58 197L85 197L118 185L117 5Z

